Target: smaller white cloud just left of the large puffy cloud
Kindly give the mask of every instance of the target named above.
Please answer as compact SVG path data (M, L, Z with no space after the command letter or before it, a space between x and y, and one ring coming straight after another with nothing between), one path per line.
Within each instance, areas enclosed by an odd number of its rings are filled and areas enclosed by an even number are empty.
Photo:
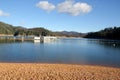
M47 12L50 12L55 9L55 6L48 1L40 1L37 5L37 7L46 10Z

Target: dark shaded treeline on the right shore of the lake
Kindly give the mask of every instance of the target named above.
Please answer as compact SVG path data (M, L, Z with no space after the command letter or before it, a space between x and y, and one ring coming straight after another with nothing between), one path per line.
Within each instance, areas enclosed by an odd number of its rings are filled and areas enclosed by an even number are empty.
M85 36L85 38L120 40L120 27L110 27L98 32L90 32Z

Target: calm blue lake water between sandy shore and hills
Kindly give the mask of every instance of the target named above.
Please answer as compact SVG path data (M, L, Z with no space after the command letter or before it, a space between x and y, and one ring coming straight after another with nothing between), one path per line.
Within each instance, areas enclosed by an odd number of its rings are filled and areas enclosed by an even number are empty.
M120 67L120 41L61 38L54 42L0 40L0 62L66 63Z

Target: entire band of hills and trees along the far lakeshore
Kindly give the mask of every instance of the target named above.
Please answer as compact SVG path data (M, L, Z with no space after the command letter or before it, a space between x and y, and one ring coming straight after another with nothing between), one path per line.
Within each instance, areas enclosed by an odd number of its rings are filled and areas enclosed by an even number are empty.
M120 27L111 27L105 28L104 30L100 30L98 32L90 32L87 35L78 33L78 32L52 32L50 30L38 27L38 28L30 28L26 29L21 26L12 26L3 22L0 22L0 34L3 35L22 35L22 36L65 36L65 37L83 37L85 38L99 38L99 39L116 39L120 40Z

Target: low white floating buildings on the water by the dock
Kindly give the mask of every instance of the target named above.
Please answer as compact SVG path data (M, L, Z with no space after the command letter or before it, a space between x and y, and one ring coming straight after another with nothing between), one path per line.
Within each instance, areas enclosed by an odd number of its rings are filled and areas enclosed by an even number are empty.
M34 42L51 42L55 41L57 37L54 36L40 36L40 37L34 37Z

